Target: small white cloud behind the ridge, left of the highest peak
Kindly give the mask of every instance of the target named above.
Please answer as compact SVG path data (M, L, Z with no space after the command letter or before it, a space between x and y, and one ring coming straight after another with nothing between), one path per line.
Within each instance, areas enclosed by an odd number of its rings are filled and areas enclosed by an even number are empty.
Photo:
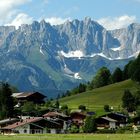
M60 17L45 18L45 21L49 22L51 25L63 24L67 20L71 20L71 19L70 18L60 18Z

